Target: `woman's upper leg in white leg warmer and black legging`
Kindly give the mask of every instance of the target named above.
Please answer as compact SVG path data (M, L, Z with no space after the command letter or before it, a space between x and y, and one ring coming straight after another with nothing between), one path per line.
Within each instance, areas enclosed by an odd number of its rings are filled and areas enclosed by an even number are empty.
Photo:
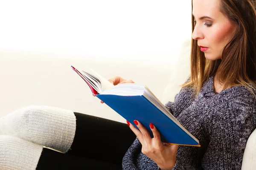
M0 135L12 135L69 155L121 164L135 139L128 125L60 108L30 106L0 118Z

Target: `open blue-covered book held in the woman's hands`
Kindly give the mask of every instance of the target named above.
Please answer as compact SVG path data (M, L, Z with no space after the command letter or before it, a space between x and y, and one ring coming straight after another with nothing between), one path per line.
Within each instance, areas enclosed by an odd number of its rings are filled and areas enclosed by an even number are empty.
M148 130L151 137L153 137L152 131L150 130L149 123L152 123L157 130L160 132L161 141L168 144L180 144L190 146L200 146L199 141L192 136L180 123L174 118L171 113L163 110L161 111L156 103L152 103L145 96L145 93L140 95L124 95L127 93L116 93L116 94L103 94L99 93L98 88L100 85L96 85L97 82L100 84L99 77L92 78L92 74L87 74L84 71L78 71L76 68L71 66L74 71L89 85L91 91L95 96L101 99L106 105L112 108L116 113L121 115L123 118L128 120L134 127L134 120L138 120ZM83 72L83 73L82 73ZM135 87L135 86L134 86ZM136 89L136 88L135 88ZM120 91L120 87L117 89ZM136 89L137 90L137 89ZM137 90L138 91L138 90ZM153 94L151 98L155 97ZM161 104L162 107L164 107Z

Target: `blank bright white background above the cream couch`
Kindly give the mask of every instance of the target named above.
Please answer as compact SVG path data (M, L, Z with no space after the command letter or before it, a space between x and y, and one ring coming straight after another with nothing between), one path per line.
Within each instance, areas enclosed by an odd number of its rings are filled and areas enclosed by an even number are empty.
M169 64L190 37L190 0L0 0L0 51Z

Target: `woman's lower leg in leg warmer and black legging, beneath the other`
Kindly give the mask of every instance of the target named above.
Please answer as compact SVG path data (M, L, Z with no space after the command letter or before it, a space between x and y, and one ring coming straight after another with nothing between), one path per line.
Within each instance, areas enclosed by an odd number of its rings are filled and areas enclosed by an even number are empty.
M0 135L0 170L121 170L113 163L67 155L15 136Z

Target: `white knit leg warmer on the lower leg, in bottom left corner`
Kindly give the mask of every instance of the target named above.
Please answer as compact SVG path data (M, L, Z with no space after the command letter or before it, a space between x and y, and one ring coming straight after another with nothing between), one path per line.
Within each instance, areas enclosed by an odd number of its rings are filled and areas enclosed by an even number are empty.
M35 170L42 150L38 144L0 135L0 170Z

